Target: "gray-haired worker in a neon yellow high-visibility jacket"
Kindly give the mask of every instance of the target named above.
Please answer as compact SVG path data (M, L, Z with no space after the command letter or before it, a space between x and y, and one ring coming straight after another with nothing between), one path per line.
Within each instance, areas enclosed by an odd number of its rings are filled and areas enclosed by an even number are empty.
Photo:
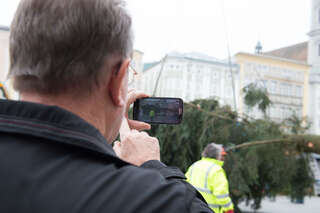
M227 153L222 145L210 143L202 152L202 159L193 163L186 173L191 183L215 213L233 213L229 184L223 166Z

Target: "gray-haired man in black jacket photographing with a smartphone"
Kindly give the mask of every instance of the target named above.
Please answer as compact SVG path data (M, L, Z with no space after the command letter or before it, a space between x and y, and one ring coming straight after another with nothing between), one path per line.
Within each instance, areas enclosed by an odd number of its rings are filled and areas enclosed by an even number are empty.
M131 18L121 0L21 0L0 104L0 212L212 212L127 110ZM120 128L121 127L121 128ZM120 142L110 144L119 134Z

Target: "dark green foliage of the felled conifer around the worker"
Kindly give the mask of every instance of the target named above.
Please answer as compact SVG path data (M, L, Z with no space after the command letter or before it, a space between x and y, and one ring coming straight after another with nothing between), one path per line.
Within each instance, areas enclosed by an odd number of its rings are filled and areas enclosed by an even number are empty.
M302 121L299 123L295 119L286 121L287 127L294 133L303 134L300 127L294 127L301 125ZM216 100L196 100L184 105L181 125L153 126L151 135L160 141L162 161L185 172L193 162L201 158L203 148L210 142L232 148L249 141L287 139L287 131L283 131L282 126L267 117L251 121L240 119L229 106L219 106ZM250 202L252 208L258 209L262 198L278 193L294 194L299 191L298 194L302 193L304 196L305 189L312 186L312 177L308 165L299 163L302 159L299 156L303 155L298 146L290 143L230 151L224 167L236 210L240 212L237 205L243 201ZM296 174L301 171L305 175L297 177ZM296 190L293 185L301 186L303 190Z

